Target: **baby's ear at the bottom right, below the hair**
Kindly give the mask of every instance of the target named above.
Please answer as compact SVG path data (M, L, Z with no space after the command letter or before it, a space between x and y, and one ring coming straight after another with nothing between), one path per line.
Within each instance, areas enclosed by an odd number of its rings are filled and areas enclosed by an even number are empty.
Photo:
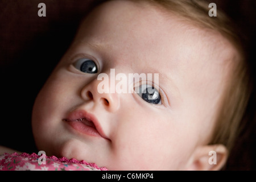
M187 170L217 171L226 163L228 150L222 144L199 146L189 159Z

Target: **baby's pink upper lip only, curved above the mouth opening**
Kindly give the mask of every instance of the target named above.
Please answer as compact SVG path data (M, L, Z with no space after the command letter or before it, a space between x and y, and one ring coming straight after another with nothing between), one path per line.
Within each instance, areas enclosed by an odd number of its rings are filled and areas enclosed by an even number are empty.
M90 122L93 123L93 125L95 126L94 128L97 130L97 132L101 135L102 138L105 139L109 139L108 137L106 137L104 131L102 130L102 127L100 125L100 122L98 122L98 119L91 113L88 113L85 110L75 110L75 111L71 111L71 113L69 113L67 115L67 118L64 118L63 121L79 121L80 119L86 119Z

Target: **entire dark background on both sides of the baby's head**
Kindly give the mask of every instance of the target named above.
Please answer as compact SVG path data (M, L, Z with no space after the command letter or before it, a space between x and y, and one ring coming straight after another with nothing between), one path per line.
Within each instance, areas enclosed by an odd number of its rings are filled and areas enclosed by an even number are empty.
M46 4L46 17L38 4ZM0 145L38 152L31 131L36 94L76 33L93 0L0 0ZM255 80L255 0L215 0L244 35ZM254 81L255 82L255 81ZM255 86L247 107L248 123L230 153L225 170L256 169Z

